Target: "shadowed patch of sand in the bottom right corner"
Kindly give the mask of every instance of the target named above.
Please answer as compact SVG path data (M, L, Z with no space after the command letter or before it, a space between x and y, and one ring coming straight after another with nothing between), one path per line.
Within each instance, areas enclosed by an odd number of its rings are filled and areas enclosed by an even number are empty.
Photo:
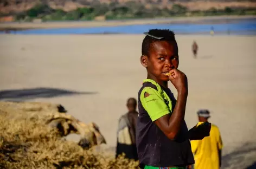
M256 145L255 143L246 143L235 151L222 157L221 168L256 168Z

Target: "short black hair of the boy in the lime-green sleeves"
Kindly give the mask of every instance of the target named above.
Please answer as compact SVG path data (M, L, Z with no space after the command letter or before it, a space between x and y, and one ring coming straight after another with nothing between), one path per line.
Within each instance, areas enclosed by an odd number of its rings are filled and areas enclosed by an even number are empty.
M156 37L163 37L163 38L158 39L158 38L146 35L142 42L142 55L149 56L150 45L153 42L157 42L157 41L176 42L174 32L169 29L150 29L148 34Z

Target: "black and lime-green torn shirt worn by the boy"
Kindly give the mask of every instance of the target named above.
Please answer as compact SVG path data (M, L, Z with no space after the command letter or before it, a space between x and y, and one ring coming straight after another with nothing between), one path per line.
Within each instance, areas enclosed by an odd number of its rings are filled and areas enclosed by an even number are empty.
M144 97L144 93L149 93ZM194 164L188 138L188 128L183 122L175 140L167 138L153 122L174 110L176 99L170 89L146 79L138 93L139 116L136 127L136 146L139 164L155 167L187 166Z

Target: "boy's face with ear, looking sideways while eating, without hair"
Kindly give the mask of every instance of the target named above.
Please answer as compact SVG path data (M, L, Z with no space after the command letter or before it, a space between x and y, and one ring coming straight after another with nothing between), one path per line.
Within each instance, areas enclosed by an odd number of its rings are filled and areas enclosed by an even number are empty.
M148 70L148 76L156 82L169 81L165 73L178 68L178 46L176 42L158 41L151 43L149 56L140 61Z

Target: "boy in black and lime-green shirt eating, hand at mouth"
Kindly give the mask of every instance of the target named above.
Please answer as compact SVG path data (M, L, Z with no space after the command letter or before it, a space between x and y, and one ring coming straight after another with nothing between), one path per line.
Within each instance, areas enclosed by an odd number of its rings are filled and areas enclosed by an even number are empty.
M136 144L140 168L180 168L194 164L190 140L209 135L210 124L188 131L184 121L187 77L178 68L174 32L153 29L144 33L140 62L148 77L138 93ZM178 92L177 101L168 81Z

